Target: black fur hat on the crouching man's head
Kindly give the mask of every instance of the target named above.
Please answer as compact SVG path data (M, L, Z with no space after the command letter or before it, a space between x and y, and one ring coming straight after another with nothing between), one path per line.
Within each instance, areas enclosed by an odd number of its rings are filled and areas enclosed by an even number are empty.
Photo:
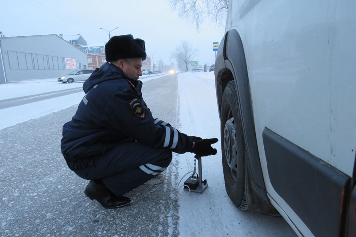
M132 35L113 36L105 44L106 61L112 62L120 58L146 59L146 47L143 40Z

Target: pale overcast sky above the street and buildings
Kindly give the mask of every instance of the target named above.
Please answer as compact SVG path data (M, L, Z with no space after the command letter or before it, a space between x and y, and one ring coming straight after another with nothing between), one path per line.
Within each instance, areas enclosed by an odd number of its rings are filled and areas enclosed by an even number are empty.
M155 64L176 62L171 53L181 40L198 49L194 60L208 66L215 61L213 42L223 38L224 28L206 19L200 31L168 0L1 0L0 31L5 36L81 34L88 45L104 45L113 35L132 34L146 42ZM157 61L156 61L157 60ZM156 63L157 62L157 63Z

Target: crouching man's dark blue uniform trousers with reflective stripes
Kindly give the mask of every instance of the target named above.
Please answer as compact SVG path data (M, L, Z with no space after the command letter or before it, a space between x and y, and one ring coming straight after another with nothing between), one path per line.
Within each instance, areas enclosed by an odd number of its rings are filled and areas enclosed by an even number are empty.
M93 158L88 167L75 173L83 179L100 179L111 192L121 196L163 172L171 160L172 151L168 148L130 142Z

